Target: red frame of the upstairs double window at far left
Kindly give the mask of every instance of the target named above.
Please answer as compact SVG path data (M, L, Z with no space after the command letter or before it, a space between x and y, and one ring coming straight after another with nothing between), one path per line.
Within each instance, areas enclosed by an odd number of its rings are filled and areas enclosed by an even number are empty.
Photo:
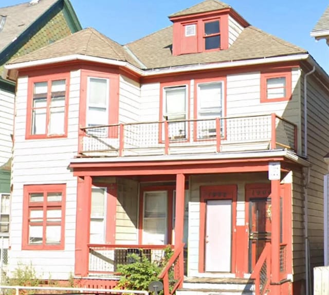
M64 108L64 133L63 134L48 134L49 129L49 112L51 101L51 82L65 80L65 108ZM34 84L39 82L47 82L47 106L46 106L46 126L45 134L32 134L32 112L33 112L33 89ZM28 80L28 97L27 97L27 115L26 115L26 139L44 139L44 138L61 138L67 137L67 115L68 115L68 97L69 97L70 73L56 73L52 75L30 77Z

